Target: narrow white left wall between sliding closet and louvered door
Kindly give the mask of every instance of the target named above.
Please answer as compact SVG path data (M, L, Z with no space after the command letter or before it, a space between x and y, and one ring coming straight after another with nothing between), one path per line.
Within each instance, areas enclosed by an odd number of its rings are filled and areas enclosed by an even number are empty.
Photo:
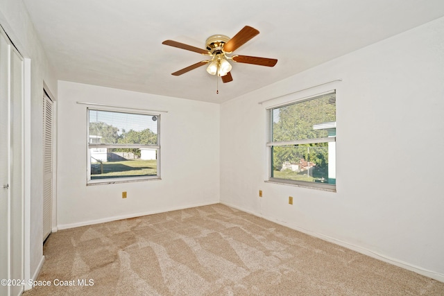
M43 260L43 82L53 94L57 93L57 83L22 0L0 1L0 24L25 58L24 272L25 278L29 279L35 277Z

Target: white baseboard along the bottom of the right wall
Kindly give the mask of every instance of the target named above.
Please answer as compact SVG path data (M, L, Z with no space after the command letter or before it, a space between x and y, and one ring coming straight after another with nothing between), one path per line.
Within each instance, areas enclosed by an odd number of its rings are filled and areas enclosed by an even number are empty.
M302 232L302 233L305 233L305 234L309 234L310 236L315 236L317 238L321 238L323 241L328 241L328 242L334 243L336 245L341 245L342 247L346 247L346 248L348 248L350 250L353 250L355 252L358 252L358 253L370 256L372 258L384 261L386 263L390 263L390 264L396 265L396 266L398 266L400 268L411 270L413 272L418 273L419 275L424 275L425 277L430 277L432 279L436 279L436 281L444 282L444 275L439 273L439 272L434 272L434 271L431 271L431 270L426 270L424 268L420 268L418 266L411 265L411 264L409 264L407 262L403 262L403 261L400 261L398 259L391 258L390 256L385 256L383 254L379 254L378 252L374 252L372 250L368 250L365 247L360 247L358 245L352 245L350 243L347 243L345 241L340 241L340 240L338 240L336 238L332 238L330 236L325 236L323 234L318 234L316 232L311 232L310 230L298 227L296 225L290 225L290 224L287 224L287 223L283 223L282 221L276 220L275 218L270 218L270 217L263 216L261 214L257 214L257 213L255 213L253 211L250 211L248 209L244 209L242 207L238 207L238 206L236 206L234 204L230 204L228 202L220 202L220 203L221 204L225 204L226 206L232 207L234 209L239 209L239 211L245 211L248 214L252 214L254 216L257 216L257 217L260 217L260 218L264 218L264 219L266 219L268 221L271 221L273 223L276 223L276 224L279 224L279 225L282 225L282 226L285 226L285 227L289 227L291 229L295 229L298 232Z

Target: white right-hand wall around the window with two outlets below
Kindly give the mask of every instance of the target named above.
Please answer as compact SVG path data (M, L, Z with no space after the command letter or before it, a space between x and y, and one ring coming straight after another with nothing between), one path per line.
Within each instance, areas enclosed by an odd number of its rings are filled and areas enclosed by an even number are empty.
M264 182L266 107L328 89L337 192ZM444 281L443 114L441 18L221 105L221 202Z

